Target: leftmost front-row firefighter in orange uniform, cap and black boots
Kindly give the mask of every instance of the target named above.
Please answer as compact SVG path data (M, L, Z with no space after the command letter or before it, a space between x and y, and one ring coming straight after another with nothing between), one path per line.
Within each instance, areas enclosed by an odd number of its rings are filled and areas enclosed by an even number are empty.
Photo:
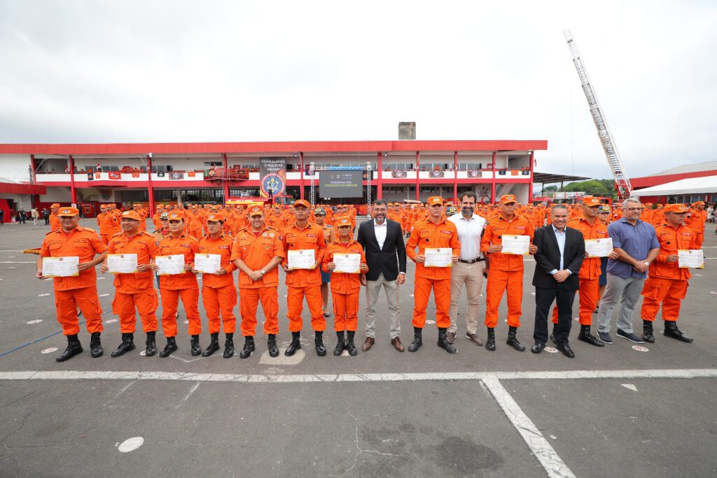
M87 321L87 332L92 334L90 338L92 357L100 357L103 354L100 342L103 326L95 266L107 255L107 246L100 241L95 230L80 227L80 211L77 208L57 207L56 209L56 218L60 220L60 227L47 233L42 241L37 258L36 277L45 278L42 275L42 258L45 257L77 257L79 274L52 279L57 322L60 322L62 333L67 337L67 349L55 360L64 362L82 352L80 339L77 338L77 334L80 333L77 306L80 306ZM96 256L97 254L99 256Z

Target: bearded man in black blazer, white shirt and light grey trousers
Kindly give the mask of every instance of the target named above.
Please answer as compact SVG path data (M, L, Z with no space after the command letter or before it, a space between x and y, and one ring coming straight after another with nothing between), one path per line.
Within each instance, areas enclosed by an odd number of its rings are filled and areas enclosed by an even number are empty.
M376 201L373 206L373 220L359 225L356 239L366 253L366 341L361 350L366 352L376 341L376 301L379 300L381 286L386 291L386 301L391 311L391 345L399 352L404 351L399 335L399 286L406 281L406 245L403 231L398 222L386 219L389 208L384 201Z

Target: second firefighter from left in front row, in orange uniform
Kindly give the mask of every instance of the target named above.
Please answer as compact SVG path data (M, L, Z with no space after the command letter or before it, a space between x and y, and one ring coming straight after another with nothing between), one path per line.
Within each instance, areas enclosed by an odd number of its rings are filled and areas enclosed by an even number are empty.
M115 274L115 299L112 302L112 311L120 317L120 332L122 343L110 354L112 357L135 349L134 332L137 319L135 311L139 312L142 320L142 330L147 334L145 341L145 355L151 357L157 352L157 291L152 285L151 262L158 256L159 249L149 233L139 229L142 217L135 211L122 213L121 233L110 238L108 253L110 254L136 254L136 273ZM105 273L109 270L107 261L100 267Z

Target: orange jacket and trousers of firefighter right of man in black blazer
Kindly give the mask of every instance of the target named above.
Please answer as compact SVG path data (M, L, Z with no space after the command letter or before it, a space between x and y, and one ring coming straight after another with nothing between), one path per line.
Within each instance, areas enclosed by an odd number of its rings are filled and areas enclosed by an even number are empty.
M406 254L416 261L418 254L424 255L426 248L451 248L452 256L460 255L460 242L455 224L442 218L437 224L431 220L416 222L406 243ZM436 327L450 327L450 267L426 267L416 263L414 279L413 326L423 328L426 324L426 307L433 289L436 302Z

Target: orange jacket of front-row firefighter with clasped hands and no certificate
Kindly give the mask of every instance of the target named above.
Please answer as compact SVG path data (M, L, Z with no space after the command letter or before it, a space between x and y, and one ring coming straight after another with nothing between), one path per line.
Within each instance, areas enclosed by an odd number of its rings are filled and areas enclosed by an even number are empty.
M285 257L281 235L277 229L265 226L258 235L255 235L250 228L243 228L237 233L232 247L232 261L241 259L252 271L258 271L276 256ZM276 267L265 273L260 281L252 281L247 274L239 271L239 289L276 287L278 285L279 269Z

